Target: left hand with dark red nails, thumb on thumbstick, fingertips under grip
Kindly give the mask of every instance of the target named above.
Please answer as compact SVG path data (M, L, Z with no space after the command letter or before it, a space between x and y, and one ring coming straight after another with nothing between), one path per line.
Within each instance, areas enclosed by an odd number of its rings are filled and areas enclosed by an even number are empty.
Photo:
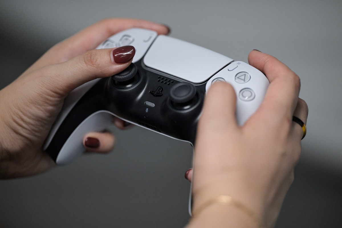
M115 33L132 27L167 34L166 26L138 19L105 19L56 44L20 77L0 91L0 178L44 172L55 165L42 150L64 98L78 86L115 75L128 67L132 46L93 50ZM117 57L113 53L117 52ZM119 128L124 122L114 119ZM84 137L89 151L105 153L114 146L108 132Z

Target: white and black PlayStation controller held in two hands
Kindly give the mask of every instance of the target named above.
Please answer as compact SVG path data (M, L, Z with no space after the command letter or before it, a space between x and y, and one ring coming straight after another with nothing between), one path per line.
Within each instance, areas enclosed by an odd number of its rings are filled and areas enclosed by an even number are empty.
M126 70L85 83L65 99L44 145L58 165L81 155L84 135L105 130L113 116L194 145L203 100L213 83L233 85L239 125L258 109L269 85L247 63L152 30L121 31L97 49L125 45L135 47Z

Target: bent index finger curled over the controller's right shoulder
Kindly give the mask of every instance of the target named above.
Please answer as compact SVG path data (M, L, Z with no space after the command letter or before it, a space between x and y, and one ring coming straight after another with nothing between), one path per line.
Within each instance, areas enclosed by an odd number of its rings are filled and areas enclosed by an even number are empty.
M270 121L284 122L286 118L291 122L300 91L299 77L277 58L259 51L252 51L248 61L270 82L264 101L255 114Z

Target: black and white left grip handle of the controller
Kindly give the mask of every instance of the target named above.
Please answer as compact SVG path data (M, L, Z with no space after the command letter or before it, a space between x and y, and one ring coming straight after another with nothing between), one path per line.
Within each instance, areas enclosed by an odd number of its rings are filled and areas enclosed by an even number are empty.
M84 135L103 131L111 123L112 114L105 110L104 85L101 79L86 92L69 111L45 151L58 165L65 165L81 155Z

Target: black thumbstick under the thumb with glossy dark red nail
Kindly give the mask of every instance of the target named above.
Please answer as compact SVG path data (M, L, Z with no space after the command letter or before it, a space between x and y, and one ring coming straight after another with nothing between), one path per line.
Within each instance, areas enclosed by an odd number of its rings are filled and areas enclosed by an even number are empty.
M111 76L111 82L119 89L127 89L135 85L140 79L138 68L131 63L126 69Z

